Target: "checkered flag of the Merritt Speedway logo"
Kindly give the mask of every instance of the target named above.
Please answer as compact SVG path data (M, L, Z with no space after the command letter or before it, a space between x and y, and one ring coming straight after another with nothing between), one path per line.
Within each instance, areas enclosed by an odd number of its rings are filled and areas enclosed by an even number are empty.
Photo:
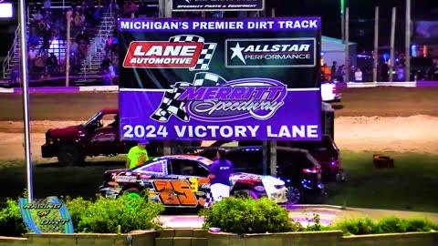
M162 97L160 107L151 115L151 119L158 122L167 122L171 116L175 116L184 122L190 120L189 115L185 109L186 101L178 100L183 92L183 87L217 87L226 83L223 77L212 73L197 73L194 76L193 83L177 82L172 90L168 90Z

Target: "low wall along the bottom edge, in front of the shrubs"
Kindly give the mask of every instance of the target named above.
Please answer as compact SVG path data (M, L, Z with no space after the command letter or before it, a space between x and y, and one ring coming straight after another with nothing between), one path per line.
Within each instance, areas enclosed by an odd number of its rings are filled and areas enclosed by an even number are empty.
M341 231L275 234L209 233L199 229L165 229L130 234L131 246L438 246L438 232L342 236ZM128 234L33 234L0 237L0 246L126 246Z

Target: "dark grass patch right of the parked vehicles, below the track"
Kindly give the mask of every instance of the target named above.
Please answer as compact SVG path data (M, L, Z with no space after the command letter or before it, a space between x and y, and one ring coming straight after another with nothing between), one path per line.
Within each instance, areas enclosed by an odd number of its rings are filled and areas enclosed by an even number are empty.
M438 212L438 155L386 153L394 169L378 169L372 152L342 151L345 183L327 185L329 204L381 210Z

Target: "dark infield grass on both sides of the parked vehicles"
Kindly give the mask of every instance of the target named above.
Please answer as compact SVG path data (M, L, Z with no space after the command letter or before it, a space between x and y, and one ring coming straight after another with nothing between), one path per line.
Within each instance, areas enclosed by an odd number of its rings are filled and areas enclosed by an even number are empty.
M386 153L395 159L394 169L377 169L372 152L342 151L348 180L331 183L328 204L381 210L438 212L438 155ZM84 167L59 167L57 163L34 163L34 197L81 196L92 198L107 169L120 169L124 156L89 159ZM0 162L0 197L17 198L26 188L23 161Z

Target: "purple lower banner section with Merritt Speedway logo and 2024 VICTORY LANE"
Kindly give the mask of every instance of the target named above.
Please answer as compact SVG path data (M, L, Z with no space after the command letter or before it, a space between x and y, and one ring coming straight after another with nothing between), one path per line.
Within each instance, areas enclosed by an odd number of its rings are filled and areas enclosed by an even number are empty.
M120 88L120 136L315 140L320 97L318 88L287 88L261 77L226 81L213 73L197 73L172 89Z

